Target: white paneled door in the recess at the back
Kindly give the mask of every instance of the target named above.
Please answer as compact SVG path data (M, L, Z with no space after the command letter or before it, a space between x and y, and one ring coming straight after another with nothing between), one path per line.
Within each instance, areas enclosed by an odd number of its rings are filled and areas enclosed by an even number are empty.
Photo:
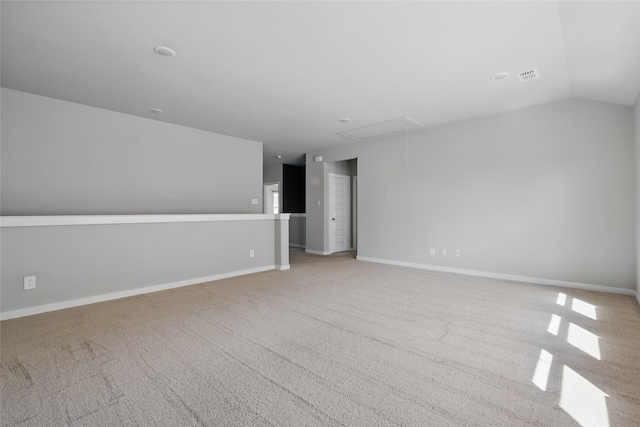
M351 246L351 186L345 175L329 174L329 250L342 252Z

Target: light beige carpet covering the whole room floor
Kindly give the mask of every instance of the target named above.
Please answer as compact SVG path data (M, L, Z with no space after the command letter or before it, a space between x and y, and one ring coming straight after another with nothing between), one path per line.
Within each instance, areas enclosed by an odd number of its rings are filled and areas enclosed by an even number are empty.
M632 297L291 264L2 322L2 425L639 425Z

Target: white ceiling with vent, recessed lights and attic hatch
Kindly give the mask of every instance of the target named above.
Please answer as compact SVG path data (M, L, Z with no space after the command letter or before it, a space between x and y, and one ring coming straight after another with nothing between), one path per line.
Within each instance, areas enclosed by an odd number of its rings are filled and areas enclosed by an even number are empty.
M261 141L266 164L401 116L433 126L572 97L630 106L640 89L639 1L1 7L3 87ZM532 68L541 78L520 82Z

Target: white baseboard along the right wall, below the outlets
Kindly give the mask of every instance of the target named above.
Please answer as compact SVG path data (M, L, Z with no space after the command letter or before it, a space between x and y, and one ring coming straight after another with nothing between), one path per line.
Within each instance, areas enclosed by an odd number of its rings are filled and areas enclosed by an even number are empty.
M536 285L558 286L561 288L583 289L586 291L606 292L610 294L633 295L633 289L613 286L592 285L588 283L567 282L564 280L541 279L538 277L517 276L514 274L490 273L487 271L467 270L463 268L441 267L438 265L418 264L414 262L392 261L380 258L356 256L357 260L375 262L379 264L397 265L400 267L419 268L422 270L443 271L446 273L466 274L468 276L489 277L492 279L512 280L515 282L533 283ZM638 298L636 293L636 298ZM638 301L640 303L640 300Z

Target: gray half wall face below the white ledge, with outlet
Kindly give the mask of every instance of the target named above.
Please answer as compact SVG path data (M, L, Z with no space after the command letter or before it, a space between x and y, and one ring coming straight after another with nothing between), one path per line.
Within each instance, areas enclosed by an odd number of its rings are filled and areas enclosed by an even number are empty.
M273 266L274 236L272 220L2 228L0 309Z

